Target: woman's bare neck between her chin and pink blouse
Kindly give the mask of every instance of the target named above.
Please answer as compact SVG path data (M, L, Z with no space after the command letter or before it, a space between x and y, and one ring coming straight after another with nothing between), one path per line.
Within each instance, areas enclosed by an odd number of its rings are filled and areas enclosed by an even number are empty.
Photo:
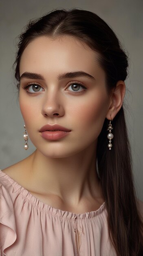
M96 171L95 144L62 158L49 158L37 149L30 156L29 178L38 193L58 195L64 202L78 205L83 198L101 198Z

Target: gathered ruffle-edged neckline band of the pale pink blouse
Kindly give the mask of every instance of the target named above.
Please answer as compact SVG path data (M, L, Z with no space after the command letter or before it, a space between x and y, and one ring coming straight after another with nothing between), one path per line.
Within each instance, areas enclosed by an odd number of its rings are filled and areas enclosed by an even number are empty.
M46 210L46 212L51 213L53 216L61 216L61 218L77 218L77 219L85 219L85 218L93 218L95 216L98 216L105 210L105 202L101 204L99 209L95 211L90 211L86 213L73 213L70 211L64 211L61 209L56 209L55 207L50 206L49 204L46 204L42 202L39 198L36 198L34 195L32 195L27 189L25 189L23 186L18 184L15 180L13 180L8 174L4 173L0 169L0 177L6 178L9 180L11 185L13 186L13 189L16 189L16 191L19 191L19 193L22 195L22 197L25 200L28 200L33 206L38 207L40 211Z

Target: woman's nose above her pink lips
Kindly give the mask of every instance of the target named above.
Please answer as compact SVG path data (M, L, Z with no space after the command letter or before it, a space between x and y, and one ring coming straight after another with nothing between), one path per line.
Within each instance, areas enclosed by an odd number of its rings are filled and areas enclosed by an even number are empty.
M42 115L44 117L55 117L64 115L64 106L63 99L58 93L48 92L45 94L43 103L42 103Z

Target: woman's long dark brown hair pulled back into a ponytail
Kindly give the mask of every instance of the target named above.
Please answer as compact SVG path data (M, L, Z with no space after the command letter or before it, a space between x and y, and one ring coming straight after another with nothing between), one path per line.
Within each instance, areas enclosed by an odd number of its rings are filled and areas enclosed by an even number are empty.
M15 60L15 78L20 88L20 58L25 47L38 36L51 38L69 35L86 43L99 53L99 64L106 73L108 92L117 81L127 77L128 56L112 29L95 13L85 10L54 10L38 20L30 21L19 36ZM114 140L108 149L105 119L98 137L97 160L103 196L108 211L109 237L117 256L143 255L143 223L134 189L130 145L123 106L112 121Z

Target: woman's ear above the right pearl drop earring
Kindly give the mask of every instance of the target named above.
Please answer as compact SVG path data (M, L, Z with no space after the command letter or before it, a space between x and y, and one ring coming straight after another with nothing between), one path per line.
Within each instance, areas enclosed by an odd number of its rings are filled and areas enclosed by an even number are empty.
M123 105L123 99L125 96L125 83L124 81L118 81L116 88L112 91L110 106L106 118L108 120L113 119L119 112L121 106Z

